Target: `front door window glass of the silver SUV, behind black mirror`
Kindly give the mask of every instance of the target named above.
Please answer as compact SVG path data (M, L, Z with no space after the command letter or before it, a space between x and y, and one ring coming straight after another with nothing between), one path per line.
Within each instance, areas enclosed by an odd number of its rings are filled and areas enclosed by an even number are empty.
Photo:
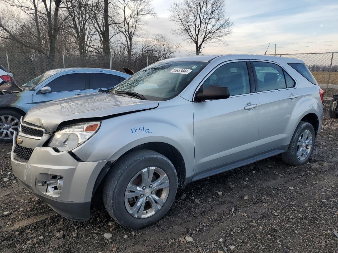
M203 83L203 90L210 85L228 87L231 96L250 93L246 62L231 62L217 68Z

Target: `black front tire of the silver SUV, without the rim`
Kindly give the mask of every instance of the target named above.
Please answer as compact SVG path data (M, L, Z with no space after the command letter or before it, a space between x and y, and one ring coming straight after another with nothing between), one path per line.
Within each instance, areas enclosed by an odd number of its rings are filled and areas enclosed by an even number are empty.
M124 203L129 181L142 169L161 168L168 176L170 188L162 208L148 218L131 216ZM152 150L137 150L120 158L108 172L103 186L103 203L108 214L121 226L130 229L147 227L160 220L170 209L177 192L177 174L173 164L162 154Z

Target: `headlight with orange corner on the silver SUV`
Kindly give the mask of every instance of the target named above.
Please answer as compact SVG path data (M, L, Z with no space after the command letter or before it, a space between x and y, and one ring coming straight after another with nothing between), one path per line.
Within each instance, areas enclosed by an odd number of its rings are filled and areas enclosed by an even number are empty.
M48 147L57 148L60 152L72 150L92 137L100 125L98 121L66 126L53 135Z

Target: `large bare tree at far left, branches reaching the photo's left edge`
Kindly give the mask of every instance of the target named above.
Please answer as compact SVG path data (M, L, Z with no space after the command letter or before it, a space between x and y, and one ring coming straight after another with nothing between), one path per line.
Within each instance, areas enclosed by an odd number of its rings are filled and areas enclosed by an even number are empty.
M2 0L3 3L10 5L11 8L20 10L23 15L18 17L13 24L13 20L0 19L0 28L4 31L1 36L4 39L15 41L26 48L43 53L49 59L51 67L55 63L55 49L58 33L69 14L60 15L60 10L66 8L62 0ZM60 17L61 16L61 17ZM31 26L34 22L34 26ZM17 36L25 31L30 36ZM43 39L47 37L44 46ZM28 38L28 39L27 39Z

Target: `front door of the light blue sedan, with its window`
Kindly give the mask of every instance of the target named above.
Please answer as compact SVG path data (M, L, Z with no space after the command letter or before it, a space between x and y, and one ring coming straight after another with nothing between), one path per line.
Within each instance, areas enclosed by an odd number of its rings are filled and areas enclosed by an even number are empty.
M41 93L43 87L50 87L50 93ZM33 94L33 105L39 105L48 101L63 99L75 95L89 93L87 73L68 73L57 76L53 80L39 87Z

